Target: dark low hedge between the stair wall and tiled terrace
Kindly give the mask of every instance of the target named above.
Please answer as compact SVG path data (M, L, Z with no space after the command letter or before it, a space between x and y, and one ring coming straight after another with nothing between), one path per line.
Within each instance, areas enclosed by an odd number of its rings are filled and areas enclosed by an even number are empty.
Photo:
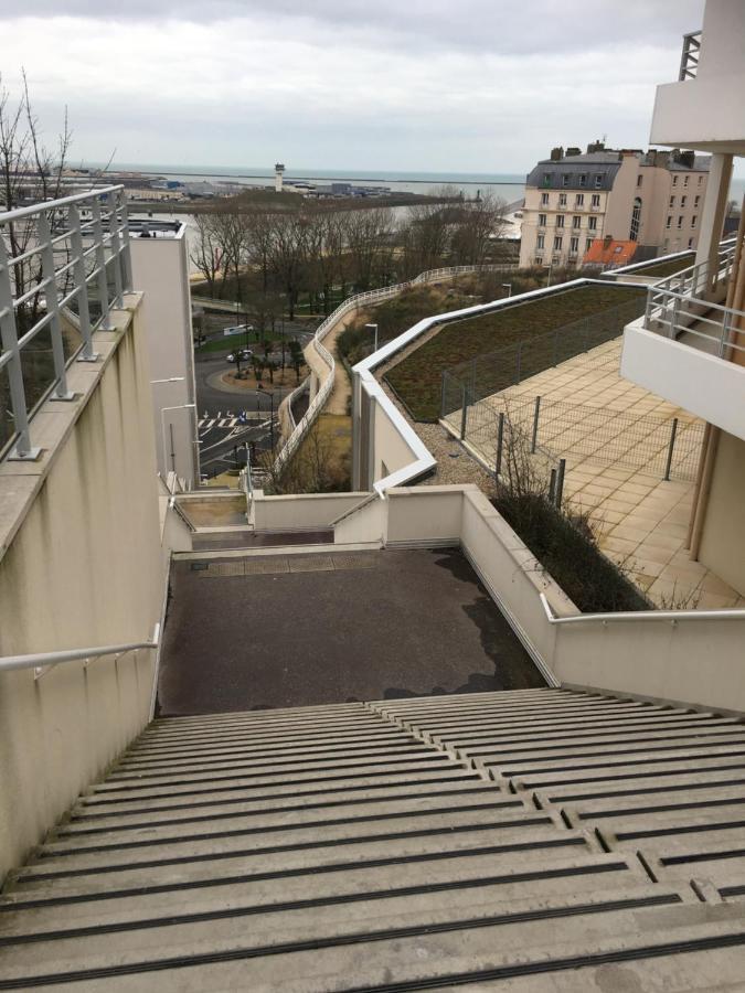
M600 552L585 517L562 513L539 493L504 494L491 502L583 613L651 609Z

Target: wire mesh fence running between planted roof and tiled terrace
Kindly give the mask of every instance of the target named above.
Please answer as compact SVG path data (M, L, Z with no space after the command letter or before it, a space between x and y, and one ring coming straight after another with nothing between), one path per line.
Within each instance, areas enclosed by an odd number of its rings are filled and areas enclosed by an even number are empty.
M643 299L628 300L553 331L451 366L443 374L440 416L447 417L456 407L461 406L464 388L473 403L618 338L625 325L642 313L643 303ZM600 364L613 359L598 355L597 361Z

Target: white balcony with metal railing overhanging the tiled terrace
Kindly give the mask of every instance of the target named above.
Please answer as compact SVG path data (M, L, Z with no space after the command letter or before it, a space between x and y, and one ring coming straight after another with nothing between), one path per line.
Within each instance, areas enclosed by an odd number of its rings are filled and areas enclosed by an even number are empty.
M745 439L745 312L717 302L733 252L722 249L711 279L704 263L649 288L624 334L621 375Z

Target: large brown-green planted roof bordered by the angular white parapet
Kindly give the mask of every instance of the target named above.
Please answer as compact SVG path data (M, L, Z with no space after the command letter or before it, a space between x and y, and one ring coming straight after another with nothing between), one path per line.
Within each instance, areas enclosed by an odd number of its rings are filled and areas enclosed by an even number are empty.
M416 420L436 421L440 414L441 382L446 370L497 349L517 346L529 339L551 335L553 344L553 332L557 328L635 300L638 300L638 312L641 313L646 290L585 286L456 321L444 325L434 338L394 366L386 380ZM578 351L582 351L581 346L577 346ZM553 350L545 349L543 357L536 359L530 371L523 371L523 378L549 367L552 355ZM492 392L500 388L503 386L494 385Z

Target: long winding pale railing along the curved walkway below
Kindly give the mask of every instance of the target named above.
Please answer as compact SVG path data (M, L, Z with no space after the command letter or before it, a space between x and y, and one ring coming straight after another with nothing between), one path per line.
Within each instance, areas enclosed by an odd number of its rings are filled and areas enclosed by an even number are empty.
M354 293L351 297L348 297L342 303L337 307L334 311L332 311L322 322L319 324L316 330L316 334L313 335L313 340L311 342L311 346L316 350L317 354L323 362L323 364L328 369L328 373L326 378L321 383L318 393L312 399L312 403L308 406L308 409L305 413L305 416L296 425L295 429L290 434L290 436L285 441L281 450L277 455L277 458L274 462L274 472L278 474L284 470L287 466L288 461L295 455L295 452L300 447L300 442L308 434L310 428L312 427L316 418L323 409L327 399L331 395L333 391L333 381L336 374L336 361L331 352L323 345L323 339L331 331L332 328L336 327L338 321L350 313L352 310L358 310L360 307L365 306L366 303L380 303L383 300L390 300L392 297L397 296L403 292L405 289L408 289L412 286L421 286L426 282L436 282L438 279L449 278L453 276L459 276L466 273L480 273L480 271L510 271L517 268L514 265L488 265L488 266L446 266L440 269L428 269L426 273L421 273L414 279L409 279L406 282L397 282L393 286L384 286L380 289L368 290L363 293Z

